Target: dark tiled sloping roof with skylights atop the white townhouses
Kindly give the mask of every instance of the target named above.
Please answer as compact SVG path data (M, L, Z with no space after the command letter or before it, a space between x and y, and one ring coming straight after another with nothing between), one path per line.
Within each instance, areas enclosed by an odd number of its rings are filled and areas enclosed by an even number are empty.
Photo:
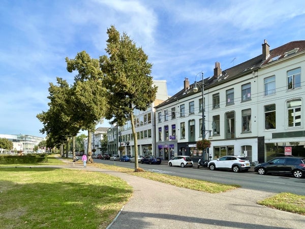
M275 49L271 49L269 51L269 56L265 61L263 61L263 54L256 56L253 59L250 59L246 62L243 62L239 65L233 66L231 68L222 70L222 74L219 76L210 76L204 79L204 87L205 88L212 88L218 84L230 81L234 78L240 77L244 74L248 74L254 70L259 69L262 66L265 66L273 61L279 61L287 56L295 55L301 51L305 50L305 40L302 41L291 41L287 44L284 44L280 47ZM201 80L202 83L202 80ZM190 84L190 87L185 90L182 89L181 91L177 92L175 95L164 101L163 103L155 106L156 108L162 107L164 105L170 104L173 101L178 99L184 98L188 96L190 93L193 92L194 83ZM198 93L198 92L197 92Z

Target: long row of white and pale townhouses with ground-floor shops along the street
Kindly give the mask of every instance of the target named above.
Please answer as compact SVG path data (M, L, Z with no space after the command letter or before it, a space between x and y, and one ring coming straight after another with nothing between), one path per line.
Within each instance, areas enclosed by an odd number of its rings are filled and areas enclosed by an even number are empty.
M165 81L154 81L156 101L135 113L138 154L164 160L245 155L252 162L305 156L304 69L305 41L270 50L264 40L262 54L226 70L217 62L214 75L197 74L194 83L185 78L171 97ZM206 153L196 148L202 138L211 141ZM117 146L134 155L130 123L108 130L109 153L117 153Z

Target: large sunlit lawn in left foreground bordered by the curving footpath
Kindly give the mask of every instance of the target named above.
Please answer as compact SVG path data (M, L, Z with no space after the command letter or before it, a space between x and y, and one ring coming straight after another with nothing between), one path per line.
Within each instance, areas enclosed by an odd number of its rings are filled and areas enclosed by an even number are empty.
M1 167L1 228L106 228L132 193L102 173Z

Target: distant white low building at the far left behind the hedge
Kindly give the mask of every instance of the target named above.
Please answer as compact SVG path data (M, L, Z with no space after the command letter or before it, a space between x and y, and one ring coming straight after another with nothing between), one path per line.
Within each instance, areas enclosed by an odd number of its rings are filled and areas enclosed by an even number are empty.
M14 153L22 151L23 153L34 153L34 147L38 146L39 142L45 140L44 137L36 137L26 134L0 134L0 138L7 138L13 142L13 150L8 153ZM4 152L0 149L1 153ZM44 153L46 149L39 149L40 152Z

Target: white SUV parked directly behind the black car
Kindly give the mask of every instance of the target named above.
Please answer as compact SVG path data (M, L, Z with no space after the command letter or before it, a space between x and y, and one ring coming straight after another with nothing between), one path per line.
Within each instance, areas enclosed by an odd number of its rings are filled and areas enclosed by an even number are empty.
M223 156L217 160L211 160L207 164L210 170L215 169L230 169L234 173L238 173L241 170L248 171L250 161L245 156Z

